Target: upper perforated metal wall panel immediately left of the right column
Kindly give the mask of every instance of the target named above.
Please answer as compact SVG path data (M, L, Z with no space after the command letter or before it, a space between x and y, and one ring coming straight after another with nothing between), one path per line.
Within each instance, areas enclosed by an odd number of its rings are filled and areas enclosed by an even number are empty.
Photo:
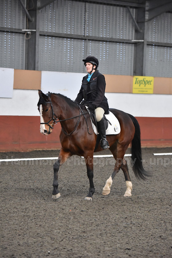
M131 12L135 16L135 10ZM127 8L87 3L86 35L134 39L134 34L134 23Z

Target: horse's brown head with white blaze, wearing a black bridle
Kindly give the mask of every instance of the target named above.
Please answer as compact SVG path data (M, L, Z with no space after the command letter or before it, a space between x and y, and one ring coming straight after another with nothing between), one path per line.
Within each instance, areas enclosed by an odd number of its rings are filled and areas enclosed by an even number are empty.
M53 111L53 106L49 95L45 95L41 90L39 92L38 110L41 117L40 131L44 135L49 135L52 132L53 125L56 124L56 115Z

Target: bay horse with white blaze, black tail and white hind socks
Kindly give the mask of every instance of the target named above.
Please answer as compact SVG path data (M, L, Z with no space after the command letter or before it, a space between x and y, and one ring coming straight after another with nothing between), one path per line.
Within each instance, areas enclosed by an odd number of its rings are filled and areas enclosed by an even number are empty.
M93 153L102 151L100 143L96 147L97 135L94 133L90 115L85 106L77 105L68 97L57 94L44 94L39 91L38 110L40 112L40 131L44 135L49 135L57 122L61 123L60 142L61 150L56 163L53 165L53 194L52 199L58 199L61 194L58 190L59 167L72 155L79 155L85 158L87 176L89 179L89 192L85 200L93 199L95 192L93 184ZM142 152L140 140L140 127L136 118L130 114L117 109L110 111L119 120L121 131L117 135L107 135L109 150L115 158L115 168L110 178L103 188L103 195L110 193L112 180L122 169L125 177L127 190L124 196L131 196L132 183L128 173L127 162L124 154L131 144L132 169L137 178L146 179L149 173L142 165ZM58 121L57 121L58 119ZM120 162L119 162L120 161Z

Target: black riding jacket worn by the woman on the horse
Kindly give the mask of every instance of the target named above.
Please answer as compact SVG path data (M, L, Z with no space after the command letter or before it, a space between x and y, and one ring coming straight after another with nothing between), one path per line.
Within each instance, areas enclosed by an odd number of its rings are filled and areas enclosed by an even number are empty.
M90 81L87 81L88 75L83 77L80 91L75 102L80 104L84 99L83 104L92 104L95 108L103 108L105 113L108 113L108 100L104 96L106 82L104 75L99 71L93 72Z

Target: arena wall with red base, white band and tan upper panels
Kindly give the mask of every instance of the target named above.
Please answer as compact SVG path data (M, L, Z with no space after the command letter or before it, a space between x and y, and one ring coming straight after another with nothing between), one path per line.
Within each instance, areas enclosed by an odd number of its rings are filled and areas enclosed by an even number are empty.
M0 81L1 89L8 91L8 87L13 87L12 98L0 99L0 151L59 149L60 124L48 136L40 133L37 90L61 93L74 100L84 75L14 69L14 73L10 73L12 80ZM138 119L142 146L172 147L172 78L154 77L153 94L133 94L133 76L105 75L105 78L109 107Z

